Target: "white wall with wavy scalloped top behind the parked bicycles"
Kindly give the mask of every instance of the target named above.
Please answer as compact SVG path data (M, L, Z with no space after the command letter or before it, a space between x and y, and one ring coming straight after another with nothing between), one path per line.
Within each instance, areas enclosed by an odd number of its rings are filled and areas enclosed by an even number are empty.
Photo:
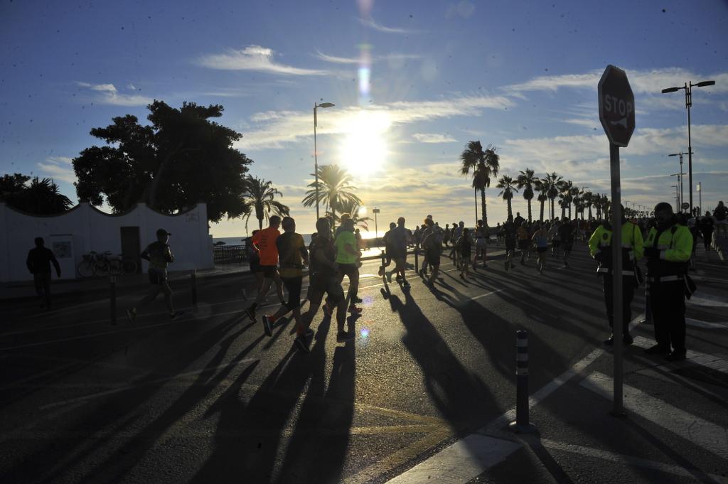
M170 271L209 269L213 262L213 242L207 231L207 205L200 203L185 213L165 215L140 203L127 213L109 215L80 203L60 215L36 216L18 212L0 203L0 282L32 279L25 266L33 239L43 237L46 247L52 249L52 240L72 242L71 258L59 261L63 266L75 267L83 254L94 250L113 254L122 252L122 226L138 226L141 250L157 239L157 229L172 233L170 247L175 262ZM66 237L63 237L66 236ZM64 263L65 262L65 263ZM146 271L147 262L143 261ZM76 277L76 271L62 269L63 279Z

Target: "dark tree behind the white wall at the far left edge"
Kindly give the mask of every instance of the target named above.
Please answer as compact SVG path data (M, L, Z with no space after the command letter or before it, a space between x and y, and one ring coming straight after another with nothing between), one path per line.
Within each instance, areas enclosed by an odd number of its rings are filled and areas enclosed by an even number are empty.
M0 178L0 202L33 215L55 215L73 205L52 178L31 178L20 173Z

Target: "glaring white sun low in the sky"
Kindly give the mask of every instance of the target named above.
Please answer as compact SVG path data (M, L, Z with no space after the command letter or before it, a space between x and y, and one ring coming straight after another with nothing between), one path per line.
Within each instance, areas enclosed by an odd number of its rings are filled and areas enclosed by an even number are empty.
M387 134L392 120L384 111L358 111L347 119L341 145L341 164L362 177L380 170L387 161Z

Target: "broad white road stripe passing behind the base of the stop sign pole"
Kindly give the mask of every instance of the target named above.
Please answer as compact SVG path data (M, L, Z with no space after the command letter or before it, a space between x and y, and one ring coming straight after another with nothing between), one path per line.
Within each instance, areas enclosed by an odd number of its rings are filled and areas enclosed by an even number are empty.
M579 385L612 400L614 389L612 378L603 373L592 373ZM724 427L673 407L633 386L624 385L624 402L627 410L699 445L716 456L728 459L728 432Z

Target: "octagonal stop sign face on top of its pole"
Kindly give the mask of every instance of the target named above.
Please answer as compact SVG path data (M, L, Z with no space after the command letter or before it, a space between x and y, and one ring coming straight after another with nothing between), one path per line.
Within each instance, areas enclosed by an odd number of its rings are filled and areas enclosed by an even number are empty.
M611 64L599 81L599 121L609 143L628 145L635 130L635 95L625 71Z

